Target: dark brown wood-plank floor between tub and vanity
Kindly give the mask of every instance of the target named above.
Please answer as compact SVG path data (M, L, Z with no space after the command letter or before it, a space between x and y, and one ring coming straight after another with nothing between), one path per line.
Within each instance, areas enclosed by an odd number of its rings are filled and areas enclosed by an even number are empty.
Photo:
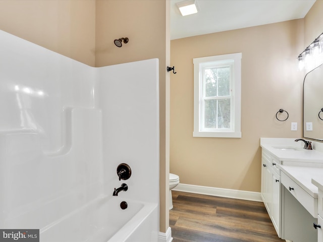
M282 242L261 202L172 191L173 242Z

